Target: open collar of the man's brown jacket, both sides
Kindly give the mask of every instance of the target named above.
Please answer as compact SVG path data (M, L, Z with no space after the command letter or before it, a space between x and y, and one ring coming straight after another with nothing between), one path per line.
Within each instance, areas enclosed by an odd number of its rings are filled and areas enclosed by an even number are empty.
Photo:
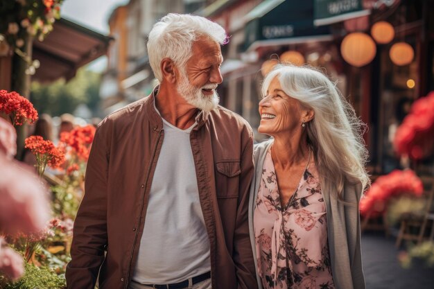
M146 116L148 116L148 120L152 125L153 130L162 130L163 128L162 116L160 116L157 110L155 110L154 105L155 98L158 95L158 91L159 85L154 88L153 92L146 98L144 102ZM200 112L196 116L197 125L193 128L193 130L199 130L200 128L202 128L202 125L207 122L208 118L209 112L203 112L202 110L200 110Z

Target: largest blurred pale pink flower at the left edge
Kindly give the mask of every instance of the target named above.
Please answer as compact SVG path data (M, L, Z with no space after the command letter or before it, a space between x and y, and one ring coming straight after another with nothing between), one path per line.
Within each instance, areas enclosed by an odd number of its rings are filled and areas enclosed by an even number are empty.
M30 166L0 154L0 233L30 234L49 220L46 188Z

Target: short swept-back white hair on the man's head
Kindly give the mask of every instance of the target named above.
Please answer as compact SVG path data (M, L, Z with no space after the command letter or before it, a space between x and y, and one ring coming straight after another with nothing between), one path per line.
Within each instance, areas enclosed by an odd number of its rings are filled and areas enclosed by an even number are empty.
M162 60L170 58L178 67L184 67L191 57L193 42L200 36L209 37L220 45L227 43L222 26L196 15L170 13L153 26L148 37L148 55L150 67L159 82L163 79Z

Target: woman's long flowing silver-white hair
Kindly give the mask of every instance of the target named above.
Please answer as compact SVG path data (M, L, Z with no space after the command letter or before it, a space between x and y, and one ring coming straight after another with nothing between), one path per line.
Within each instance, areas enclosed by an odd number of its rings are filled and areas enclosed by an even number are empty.
M363 141L366 125L342 96L336 84L313 67L277 64L262 84L266 96L270 82L277 77L288 96L314 112L306 123L307 142L315 152L315 163L323 191L341 195L345 180L370 184L365 170L367 149Z

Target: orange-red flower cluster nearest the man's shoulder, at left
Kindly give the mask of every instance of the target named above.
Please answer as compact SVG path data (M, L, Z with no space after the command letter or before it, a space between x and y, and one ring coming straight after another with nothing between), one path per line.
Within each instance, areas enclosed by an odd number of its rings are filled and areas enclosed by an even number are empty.
M95 128L93 125L74 128L71 132L62 132L60 141L70 148L69 153L78 157L80 161L89 159L90 147L94 141ZM71 170L74 170L71 168Z

